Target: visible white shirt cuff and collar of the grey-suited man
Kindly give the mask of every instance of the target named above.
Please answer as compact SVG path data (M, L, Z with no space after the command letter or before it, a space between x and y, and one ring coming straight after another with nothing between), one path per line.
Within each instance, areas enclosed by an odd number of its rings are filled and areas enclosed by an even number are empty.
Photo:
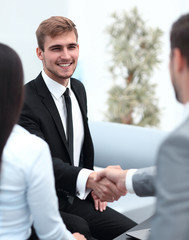
M184 105L184 109L183 109L183 121L185 121L188 116L189 116L189 102L186 103ZM133 175L135 174L135 172L137 171L138 169L129 169L129 171L127 172L127 175L126 175L126 178L125 178L125 186L126 186L126 189L129 193L135 193L134 191L134 188L133 188Z

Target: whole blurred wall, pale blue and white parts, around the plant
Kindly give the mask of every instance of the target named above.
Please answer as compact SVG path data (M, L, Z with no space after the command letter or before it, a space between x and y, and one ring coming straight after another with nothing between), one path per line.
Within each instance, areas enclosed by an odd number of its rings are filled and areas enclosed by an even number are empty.
M116 28L111 17L113 13L129 15L135 7L145 26L162 31L161 47L157 51L159 63L148 79L156 85L154 97L160 110L159 124L150 127L171 131L182 119L182 106L175 100L169 78L169 32L172 23L189 11L186 0L6 0L0 8L0 42L18 52L24 66L25 82L28 82L42 69L35 52L38 25L55 15L70 18L77 26L80 45L74 76L86 87L89 119L105 121L108 91L115 84L110 65L116 65L116 61L112 62L111 34L107 28L112 25Z

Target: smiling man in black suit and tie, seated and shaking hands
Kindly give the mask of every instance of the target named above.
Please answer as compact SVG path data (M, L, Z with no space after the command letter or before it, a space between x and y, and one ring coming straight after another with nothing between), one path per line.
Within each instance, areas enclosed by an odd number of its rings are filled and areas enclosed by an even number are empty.
M79 56L77 29L70 19L51 17L39 25L36 36L43 70L25 86L19 124L50 147L59 209L67 228L87 239L113 239L136 224L106 206L103 199L121 196L116 186L105 178L94 181L86 92L71 77Z

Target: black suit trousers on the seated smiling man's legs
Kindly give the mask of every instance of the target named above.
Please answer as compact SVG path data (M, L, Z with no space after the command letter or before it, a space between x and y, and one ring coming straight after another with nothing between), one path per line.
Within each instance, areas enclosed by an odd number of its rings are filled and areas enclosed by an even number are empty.
M67 203L60 213L72 233L80 232L87 239L111 240L136 225L134 221L109 207L103 212L96 211L90 198L75 198L73 203Z

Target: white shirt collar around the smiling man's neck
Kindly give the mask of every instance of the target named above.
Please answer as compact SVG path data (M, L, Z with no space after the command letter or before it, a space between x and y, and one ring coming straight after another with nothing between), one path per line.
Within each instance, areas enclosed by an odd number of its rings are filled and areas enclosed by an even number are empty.
M48 77L47 74L44 72L44 70L42 70L41 74L45 81L45 84L47 85L47 88L56 99L59 99L64 94L64 92L66 91L66 88L69 88L69 90L71 90L70 79L68 81L67 87L65 87L62 84ZM71 95L71 91L69 91L69 95Z

